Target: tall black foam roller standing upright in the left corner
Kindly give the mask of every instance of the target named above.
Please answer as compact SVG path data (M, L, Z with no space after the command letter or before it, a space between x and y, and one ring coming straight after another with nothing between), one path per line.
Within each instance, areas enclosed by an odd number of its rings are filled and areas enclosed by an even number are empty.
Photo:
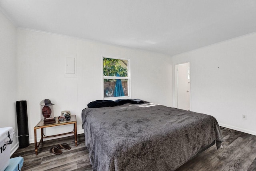
M29 145L28 111L26 100L16 101L16 112L18 123L19 148L25 148Z

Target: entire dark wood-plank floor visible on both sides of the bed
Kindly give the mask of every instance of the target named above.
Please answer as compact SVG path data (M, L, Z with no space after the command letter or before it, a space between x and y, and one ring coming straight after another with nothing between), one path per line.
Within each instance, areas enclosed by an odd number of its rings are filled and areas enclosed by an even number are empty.
M256 171L256 136L239 131L222 129L223 148L212 146L197 155L176 171ZM50 147L68 143L71 147L62 149L61 155L49 152ZM34 144L18 149L12 157L22 156L22 171L92 171L88 149L85 147L84 134L78 135L78 146L74 136L45 141L35 155Z

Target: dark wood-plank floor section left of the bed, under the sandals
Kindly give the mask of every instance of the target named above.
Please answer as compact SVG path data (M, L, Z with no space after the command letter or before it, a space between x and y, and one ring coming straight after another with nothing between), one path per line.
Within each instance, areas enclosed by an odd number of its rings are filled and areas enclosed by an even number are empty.
M74 135L44 141L38 149L38 155L35 154L33 143L26 148L16 150L12 157L23 157L22 171L92 171L84 139L84 134L77 135L77 147L75 146ZM60 155L49 152L51 147L61 143L67 143L71 149L67 151L61 149L62 154Z

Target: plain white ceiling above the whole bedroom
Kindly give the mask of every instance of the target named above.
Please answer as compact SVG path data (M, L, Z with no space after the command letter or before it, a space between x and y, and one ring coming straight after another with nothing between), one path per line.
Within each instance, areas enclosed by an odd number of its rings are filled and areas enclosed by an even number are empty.
M0 0L17 26L168 54L256 32L256 0Z

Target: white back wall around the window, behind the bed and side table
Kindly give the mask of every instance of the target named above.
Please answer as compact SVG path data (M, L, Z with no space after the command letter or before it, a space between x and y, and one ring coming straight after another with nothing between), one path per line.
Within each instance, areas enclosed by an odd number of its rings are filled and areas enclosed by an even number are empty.
M81 111L102 99L102 56L131 59L132 98L172 105L170 56L100 42L18 29L18 100L27 100L30 135L40 120L40 101L54 103L54 116L62 110L76 114L82 133ZM75 57L77 78L66 78L65 58ZM72 131L72 126L68 127ZM46 135L64 133L66 127L46 129ZM38 131L40 133L40 131ZM39 134L38 134L39 135ZM30 137L33 142L34 137Z

